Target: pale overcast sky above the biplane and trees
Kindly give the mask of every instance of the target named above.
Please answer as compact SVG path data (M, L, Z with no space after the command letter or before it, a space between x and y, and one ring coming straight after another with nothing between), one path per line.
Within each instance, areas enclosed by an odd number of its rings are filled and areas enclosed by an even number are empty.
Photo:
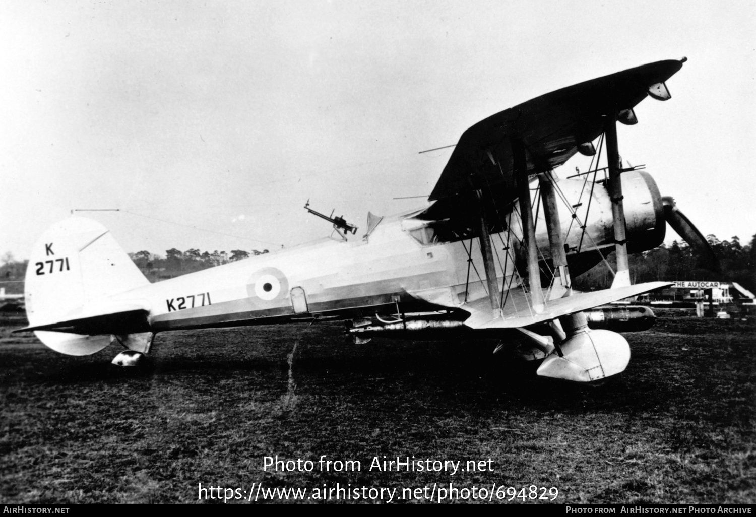
M620 151L704 234L756 234L756 3L2 2L0 254L72 209L127 252L276 249L432 190L470 125L688 57ZM584 168L571 160L562 175ZM668 240L674 238L668 231Z

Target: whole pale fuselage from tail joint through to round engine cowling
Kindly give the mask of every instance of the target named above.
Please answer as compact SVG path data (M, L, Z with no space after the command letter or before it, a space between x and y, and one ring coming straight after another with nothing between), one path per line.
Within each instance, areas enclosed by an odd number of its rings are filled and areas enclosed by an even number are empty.
M651 249L663 239L663 231L658 238L658 227L664 224L658 190L645 173L624 175L623 185L628 234L640 243L636 248ZM576 199L584 181L562 180L559 186L566 198ZM560 217L570 260L585 262L590 255L590 267L600 260L596 250L613 246L612 215L603 185L596 184L583 199L582 210L565 205ZM589 199L592 208L587 212ZM445 221L423 220L422 212L383 218L361 238L329 238L256 255L113 298L149 307L150 329L157 332L449 310L487 296L478 239L445 231ZM572 213L583 224L569 224ZM536 242L547 269L549 244L543 211L540 214ZM522 285L517 274L522 231L516 208L506 217L507 231L491 236L500 292Z

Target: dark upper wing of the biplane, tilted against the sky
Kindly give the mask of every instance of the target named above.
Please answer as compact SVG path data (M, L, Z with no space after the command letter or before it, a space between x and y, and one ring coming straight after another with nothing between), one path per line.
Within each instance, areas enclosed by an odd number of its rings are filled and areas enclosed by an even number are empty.
M652 85L665 82L683 62L658 61L591 79L478 122L460 137L430 194L429 201L436 203L423 216L450 217L476 190L487 193L485 198L494 203L489 208L502 209L516 198L511 141L524 145L528 172L554 169L573 156L579 144L603 132L604 117L643 101Z

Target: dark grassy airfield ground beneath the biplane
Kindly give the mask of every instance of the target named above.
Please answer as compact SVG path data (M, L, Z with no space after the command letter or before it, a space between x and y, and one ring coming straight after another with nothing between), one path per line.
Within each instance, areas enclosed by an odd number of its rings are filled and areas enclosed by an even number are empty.
M24 323L0 324L2 503L450 481L555 487L558 503L756 503L753 320L663 313L625 335L630 366L595 389L537 378L495 342L353 345L338 324L161 334L134 372L110 366L116 345L73 358L9 334ZM263 472L276 455L315 468ZM361 471L321 472L321 455ZM493 472L370 472L374 456L491 458Z

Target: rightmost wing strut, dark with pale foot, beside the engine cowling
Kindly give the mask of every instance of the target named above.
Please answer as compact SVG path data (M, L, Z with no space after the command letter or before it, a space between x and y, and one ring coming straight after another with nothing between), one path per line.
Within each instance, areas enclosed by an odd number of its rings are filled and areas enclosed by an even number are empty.
M630 261L627 258L627 238L625 236L624 203L622 203L621 159L617 145L617 117L606 117L606 159L609 166L609 198L612 200L612 219L615 231L615 252L617 255L617 274L612 281L613 287L630 285Z

